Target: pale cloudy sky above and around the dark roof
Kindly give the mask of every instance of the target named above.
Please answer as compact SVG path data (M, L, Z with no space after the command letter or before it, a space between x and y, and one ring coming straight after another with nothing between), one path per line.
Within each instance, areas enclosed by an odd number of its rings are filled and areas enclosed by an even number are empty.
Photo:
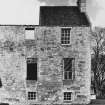
M39 24L40 6L75 5L76 0L0 0L0 24ZM87 0L93 26L105 27L105 0Z

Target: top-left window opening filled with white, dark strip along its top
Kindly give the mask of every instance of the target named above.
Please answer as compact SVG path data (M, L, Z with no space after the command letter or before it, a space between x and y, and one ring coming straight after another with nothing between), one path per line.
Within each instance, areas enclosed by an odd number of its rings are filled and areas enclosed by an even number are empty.
M25 28L25 39L34 40L35 28Z

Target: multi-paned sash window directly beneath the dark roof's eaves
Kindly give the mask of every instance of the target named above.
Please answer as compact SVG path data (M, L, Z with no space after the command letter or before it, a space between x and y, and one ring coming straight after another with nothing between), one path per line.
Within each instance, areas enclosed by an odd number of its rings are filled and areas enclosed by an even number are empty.
M70 30L71 28L61 29L61 44L70 44Z

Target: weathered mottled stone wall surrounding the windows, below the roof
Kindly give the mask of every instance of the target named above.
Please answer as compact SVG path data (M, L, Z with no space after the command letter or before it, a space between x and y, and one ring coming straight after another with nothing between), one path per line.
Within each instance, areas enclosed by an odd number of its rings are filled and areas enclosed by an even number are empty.
M27 26L0 26L0 101L10 105L86 104L90 102L90 27L71 27L70 45L61 44L62 27L35 28L34 41L25 40ZM73 80L63 80L63 58L74 61ZM26 80L27 58L37 58L37 81ZM28 100L28 91L37 99ZM72 100L63 100L72 92Z

